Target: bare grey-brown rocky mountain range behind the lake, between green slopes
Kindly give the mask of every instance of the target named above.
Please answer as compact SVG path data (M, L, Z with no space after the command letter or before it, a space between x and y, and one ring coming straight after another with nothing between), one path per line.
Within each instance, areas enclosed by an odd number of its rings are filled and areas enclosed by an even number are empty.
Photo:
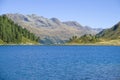
M23 26L41 38L42 43L59 44L69 40L72 36L96 34L101 30L83 27L74 21L61 22L57 18L44 18L42 16L6 14L15 23Z

